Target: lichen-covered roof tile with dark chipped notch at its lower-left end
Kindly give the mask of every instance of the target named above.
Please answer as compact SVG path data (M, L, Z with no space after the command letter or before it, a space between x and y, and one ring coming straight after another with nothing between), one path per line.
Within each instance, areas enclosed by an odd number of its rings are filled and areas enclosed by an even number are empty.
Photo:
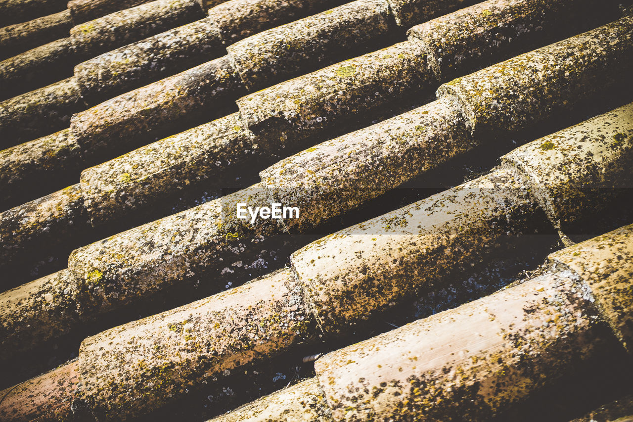
M401 42L237 100L249 129L262 148L313 136L346 119L418 96L434 78L418 42Z

